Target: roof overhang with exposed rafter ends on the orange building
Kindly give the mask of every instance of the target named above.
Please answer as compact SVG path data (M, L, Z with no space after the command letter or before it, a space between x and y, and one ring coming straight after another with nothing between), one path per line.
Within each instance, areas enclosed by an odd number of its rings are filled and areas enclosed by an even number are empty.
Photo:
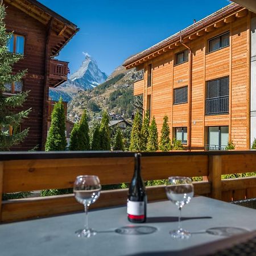
M218 27L225 26L230 22L238 18L246 16L248 10L245 7L238 5L237 3L231 3L230 5L223 7L221 10L199 20L191 26L177 32L176 34L164 39L162 42L155 44L154 46L137 53L130 57L123 63L126 69L139 68L146 61L162 55L172 49L181 46L182 43L188 43L191 40L200 38L208 32L214 31Z

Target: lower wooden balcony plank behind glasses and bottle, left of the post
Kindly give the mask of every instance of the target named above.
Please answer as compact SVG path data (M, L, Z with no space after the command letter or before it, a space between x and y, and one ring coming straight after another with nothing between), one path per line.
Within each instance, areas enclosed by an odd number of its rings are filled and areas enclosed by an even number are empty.
M210 191L207 182L193 183L196 195ZM167 200L165 185L146 187L148 201ZM90 209L126 205L128 189L102 191L97 202ZM61 196L33 197L3 202L3 222L25 220L27 218L46 217L56 214L82 211L84 207L77 203L73 194Z

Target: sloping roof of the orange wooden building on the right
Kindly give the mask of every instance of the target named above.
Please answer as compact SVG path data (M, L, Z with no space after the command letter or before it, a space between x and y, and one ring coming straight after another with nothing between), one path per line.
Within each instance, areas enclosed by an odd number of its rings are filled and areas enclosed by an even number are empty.
M123 66L126 68L133 68L135 66L141 65L143 62L147 61L148 59L151 59L151 57L155 57L154 54L157 56L160 54L159 51L168 51L175 47L175 44L180 43L180 38L187 39L187 42L189 39L189 36L191 35L197 35L196 33L198 31L204 31L205 27L208 26L214 26L214 23L220 21L221 19L226 18L229 15L233 15L234 12L240 11L244 9L242 6L238 5L237 3L230 3L230 5L223 7L222 9L216 11L213 14L210 14L209 16L199 20L198 22L192 24L191 26L188 26L184 30L181 30L177 32L176 34L162 40L161 42L155 44L154 46L145 49L142 52L137 53L134 56L131 56L129 59L127 59ZM203 33L202 33L203 34ZM174 45L172 48L168 48L171 45ZM152 56L150 56L152 55Z

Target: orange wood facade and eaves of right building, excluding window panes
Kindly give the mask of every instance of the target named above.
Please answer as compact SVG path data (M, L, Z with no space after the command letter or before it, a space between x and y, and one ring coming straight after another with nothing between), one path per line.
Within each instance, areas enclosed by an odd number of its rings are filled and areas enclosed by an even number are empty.
M237 150L250 149L250 24L254 13L237 4L185 28L128 59L127 69L144 68L144 80L134 83L134 95L143 95L143 108L154 115L158 132L167 115L171 137L176 127L187 127L187 146L205 149L208 127L228 127L227 142ZM228 46L209 51L209 41L229 32ZM188 59L176 64L177 53L188 51ZM148 67L151 67L148 86ZM229 78L228 113L205 114L207 82ZM174 90L187 86L187 103L174 104ZM150 96L150 97L149 97Z

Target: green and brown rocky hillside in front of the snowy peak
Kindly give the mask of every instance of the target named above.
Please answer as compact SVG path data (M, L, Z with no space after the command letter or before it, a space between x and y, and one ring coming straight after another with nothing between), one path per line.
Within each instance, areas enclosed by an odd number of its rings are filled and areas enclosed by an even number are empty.
M78 92L68 104L68 118L75 122L84 109L91 119L107 110L113 119L130 119L133 114L133 83L143 79L143 71L120 66L102 84L93 89Z

